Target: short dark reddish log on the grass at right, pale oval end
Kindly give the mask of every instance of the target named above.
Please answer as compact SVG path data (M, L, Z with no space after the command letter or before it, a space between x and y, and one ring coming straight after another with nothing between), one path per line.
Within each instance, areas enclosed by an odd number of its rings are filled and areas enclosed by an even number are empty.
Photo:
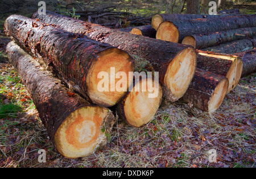
M228 91L228 78L197 69L183 101L198 109L213 113L223 102Z

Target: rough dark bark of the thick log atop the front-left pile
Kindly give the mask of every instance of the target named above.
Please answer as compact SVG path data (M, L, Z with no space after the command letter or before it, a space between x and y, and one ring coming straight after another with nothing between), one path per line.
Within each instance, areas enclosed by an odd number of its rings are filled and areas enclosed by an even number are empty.
M84 97L89 95L92 102L108 107L119 101L117 99L106 102L103 98L93 97L88 94L87 84L88 71L100 53L117 48L20 15L11 15L6 19L5 31L27 51L43 59L47 64L53 64L67 84ZM131 64L127 65L133 66L131 57L130 61Z

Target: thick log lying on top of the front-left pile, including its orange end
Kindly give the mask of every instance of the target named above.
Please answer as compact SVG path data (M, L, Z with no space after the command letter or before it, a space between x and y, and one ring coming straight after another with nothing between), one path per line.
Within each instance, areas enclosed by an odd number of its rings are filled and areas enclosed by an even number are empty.
M128 76L134 69L130 55L109 44L64 32L21 15L9 16L5 21L5 31L27 51L47 64L53 64L67 84L85 97L89 96L97 105L115 105L126 94L133 80L124 84L126 91L112 90L118 82L116 78L110 79L109 90L98 90L100 72L106 72L109 77L118 72L125 72Z

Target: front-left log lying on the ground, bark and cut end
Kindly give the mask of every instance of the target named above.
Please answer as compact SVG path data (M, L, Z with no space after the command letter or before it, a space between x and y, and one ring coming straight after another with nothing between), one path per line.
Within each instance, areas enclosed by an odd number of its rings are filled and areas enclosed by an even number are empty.
M6 50L32 96L49 138L61 155L85 157L105 145L115 122L112 111L93 106L67 89L13 41Z

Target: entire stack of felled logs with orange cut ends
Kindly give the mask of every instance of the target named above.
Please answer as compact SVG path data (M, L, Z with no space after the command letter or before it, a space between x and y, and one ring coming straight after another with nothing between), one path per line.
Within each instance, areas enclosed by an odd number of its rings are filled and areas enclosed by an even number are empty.
M228 25L218 29L222 21ZM6 19L13 39L6 49L57 151L77 158L105 145L116 120L110 109L134 127L154 118L163 97L216 111L241 75L254 72L255 49L230 55L208 48L255 45L255 23L255 15L162 14L152 25L114 30L35 12Z

